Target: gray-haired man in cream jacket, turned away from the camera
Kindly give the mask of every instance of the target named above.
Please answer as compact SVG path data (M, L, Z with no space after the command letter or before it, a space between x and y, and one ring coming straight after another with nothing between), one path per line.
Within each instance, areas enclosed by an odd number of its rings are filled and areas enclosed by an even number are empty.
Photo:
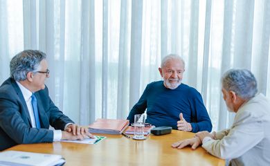
M258 92L253 74L245 69L227 71L222 77L222 93L228 111L235 112L231 129L217 133L201 131L195 138L175 142L181 149L191 145L231 160L230 165L269 165L270 102Z

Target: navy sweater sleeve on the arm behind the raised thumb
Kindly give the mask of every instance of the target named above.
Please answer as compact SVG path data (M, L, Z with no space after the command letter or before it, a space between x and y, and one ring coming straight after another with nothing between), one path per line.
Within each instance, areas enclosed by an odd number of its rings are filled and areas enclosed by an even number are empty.
M204 107L204 102L201 98L201 94L196 91L195 95L192 97L191 102L192 107L192 122L190 123L192 126L192 132L196 133L198 131L211 131L212 123L209 118L208 112L206 111L206 107Z

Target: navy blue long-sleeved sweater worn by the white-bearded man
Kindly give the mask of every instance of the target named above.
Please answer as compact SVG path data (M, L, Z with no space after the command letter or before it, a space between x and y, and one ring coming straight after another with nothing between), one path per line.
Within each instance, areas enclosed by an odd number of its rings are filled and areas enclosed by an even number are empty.
M170 126L177 129L179 114L183 113L183 118L192 126L192 132L212 130L201 94L183 83L173 90L165 88L163 81L147 84L143 95L127 119L134 122L134 115L144 113L145 109L147 109L146 122L156 127Z

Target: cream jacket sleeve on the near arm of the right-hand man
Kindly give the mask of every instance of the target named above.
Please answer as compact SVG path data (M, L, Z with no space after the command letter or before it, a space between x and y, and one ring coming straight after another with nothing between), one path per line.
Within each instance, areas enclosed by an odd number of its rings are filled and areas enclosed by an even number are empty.
M246 151L257 145L264 135L264 127L260 120L252 118L249 113L242 112L231 130L217 133L221 140L210 140L202 147L213 156L230 159L242 156ZM235 119L236 116L235 116ZM228 134L226 135L226 132Z

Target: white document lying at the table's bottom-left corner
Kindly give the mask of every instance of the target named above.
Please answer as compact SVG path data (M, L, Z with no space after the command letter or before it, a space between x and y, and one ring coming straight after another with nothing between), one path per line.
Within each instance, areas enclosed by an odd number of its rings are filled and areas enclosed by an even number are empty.
M57 154L39 154L26 151L3 151L0 153L0 165L51 166L64 165L66 160Z

